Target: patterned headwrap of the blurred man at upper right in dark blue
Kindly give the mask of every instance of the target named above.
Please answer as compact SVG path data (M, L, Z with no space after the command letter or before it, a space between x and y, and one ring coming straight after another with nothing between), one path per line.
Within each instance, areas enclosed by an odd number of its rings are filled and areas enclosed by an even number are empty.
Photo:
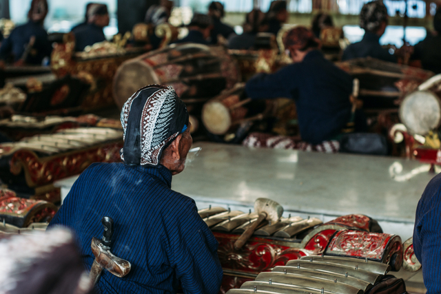
M360 28L375 32L383 21L387 21L387 8L380 0L366 3L360 12Z

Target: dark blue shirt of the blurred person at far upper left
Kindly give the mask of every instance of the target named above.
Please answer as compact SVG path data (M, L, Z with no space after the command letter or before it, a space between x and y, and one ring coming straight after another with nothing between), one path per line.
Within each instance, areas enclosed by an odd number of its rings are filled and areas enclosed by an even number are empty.
M12 30L11 34L1 43L0 59L6 60L12 54L14 61L18 61L23 56L26 46L30 42L31 36L35 37L34 45L26 57L25 63L41 65L46 56L50 56L52 45L48 40L48 33L43 26L33 21L28 21L24 25L19 25Z

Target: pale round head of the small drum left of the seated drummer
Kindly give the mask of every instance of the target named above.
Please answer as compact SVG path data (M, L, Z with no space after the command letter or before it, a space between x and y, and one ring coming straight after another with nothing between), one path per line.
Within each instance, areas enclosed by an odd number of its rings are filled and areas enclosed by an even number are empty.
M202 121L208 132L215 135L225 134L232 125L229 109L219 101L209 101L202 109Z

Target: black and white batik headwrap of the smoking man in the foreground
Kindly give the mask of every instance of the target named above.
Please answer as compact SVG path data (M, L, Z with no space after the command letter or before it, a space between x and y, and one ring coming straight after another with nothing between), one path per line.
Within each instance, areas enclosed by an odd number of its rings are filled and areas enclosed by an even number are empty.
M172 87L148 85L124 103L121 125L125 164L156 166L163 149L187 129L188 112Z

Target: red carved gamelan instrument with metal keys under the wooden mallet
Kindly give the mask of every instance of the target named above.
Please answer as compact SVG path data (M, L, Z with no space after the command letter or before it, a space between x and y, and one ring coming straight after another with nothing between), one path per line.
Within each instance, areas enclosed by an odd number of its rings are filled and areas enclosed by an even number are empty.
M276 212L277 209L271 209L271 211ZM318 273L320 275L322 271L325 271L325 269L320 270L321 262L330 263L336 268L335 264L340 263L340 260L345 260L345 262L340 264L338 271L335 269L334 275L338 277L344 276L345 272L356 274L355 271L349 271L349 268L355 269L356 266L360 275L363 271L373 272L366 275L369 277L368 281L353 280L354 287L364 285L367 289L369 284L376 282L378 277L387 271L400 270L403 258L404 263L412 262L411 241L408 242L409 257L406 259L403 255L402 240L398 235L382 233L376 220L360 214L342 216L326 223L322 223L317 218L303 219L289 215L282 216L276 222L265 219L256 225L260 211L250 210L244 213L210 206L199 210L198 213L219 243L218 257L224 272L220 293L247 285L256 277L260 280L262 274L259 273L263 271L274 269L276 272L274 276L277 277L284 275L285 269L292 275L300 273L309 275L314 271L320 271ZM234 243L244 231L252 226L256 226L256 229L251 238L240 249L236 249ZM313 262L310 261L311 257ZM300 270L297 269L298 264L300 264ZM372 267L369 267L371 265ZM296 269L291 269L292 267ZM328 266L327 269L331 267ZM263 274L265 279L267 274L269 273ZM323 275L315 276L324 277ZM331 280L333 283L334 278ZM276 282L276 279L274 277L272 281ZM299 276L299 279L303 278ZM251 289L254 290L254 288ZM320 288L318 291L320 293Z

